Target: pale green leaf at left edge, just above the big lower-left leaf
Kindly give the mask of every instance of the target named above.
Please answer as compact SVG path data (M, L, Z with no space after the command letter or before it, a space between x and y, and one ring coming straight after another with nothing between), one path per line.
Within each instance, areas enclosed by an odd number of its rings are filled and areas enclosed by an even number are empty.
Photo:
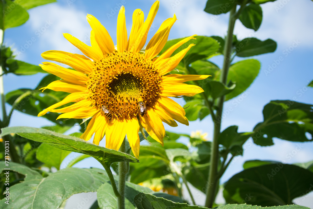
M25 181L31 181L35 179L42 179L42 176L40 173L34 171L33 169L24 166L22 164L18 164L16 162L9 162L9 167L6 167L4 163L0 164L0 173L6 172L8 170L5 170L6 168L10 168L10 171L15 171L20 174L23 174L25 176ZM11 187L10 187L11 188Z

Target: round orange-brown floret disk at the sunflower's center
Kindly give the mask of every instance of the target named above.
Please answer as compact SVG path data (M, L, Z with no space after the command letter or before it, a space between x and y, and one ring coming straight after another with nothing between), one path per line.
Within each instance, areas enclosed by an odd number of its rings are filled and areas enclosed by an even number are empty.
M118 52L104 55L94 63L86 83L94 106L104 107L116 117L133 117L139 103L153 103L159 94L161 75L143 54Z

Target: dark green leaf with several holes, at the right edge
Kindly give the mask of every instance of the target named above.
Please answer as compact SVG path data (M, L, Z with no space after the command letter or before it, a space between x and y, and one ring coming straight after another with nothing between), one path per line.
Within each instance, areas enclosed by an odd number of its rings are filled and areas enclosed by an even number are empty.
M273 137L292 142L309 142L313 134L313 105L289 100L271 101L263 109L264 122L254 127L254 143L273 145Z

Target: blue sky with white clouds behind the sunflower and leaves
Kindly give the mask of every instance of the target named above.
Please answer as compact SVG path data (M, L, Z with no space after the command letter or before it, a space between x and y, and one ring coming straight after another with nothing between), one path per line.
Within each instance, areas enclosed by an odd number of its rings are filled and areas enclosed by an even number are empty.
M71 35L89 42L90 26L86 21L86 14L92 14L102 22L110 33L116 44L116 22L117 13L115 10L124 4L126 8L126 26L128 33L131 29L131 16L136 8L140 8L147 16L154 1L79 1L62 0L57 3L45 5L29 10L30 18L23 26L8 29L5 32L4 42L12 46L19 54L17 59L39 64L44 59L40 54L47 50L63 50L67 52L80 53L62 35ZM152 24L148 39L151 38L166 18L177 16L177 22L172 27L169 39L186 37L193 34L206 36L225 36L228 24L228 14L214 16L203 11L205 0L161 0L159 12ZM236 22L234 33L238 39L246 37L257 37L261 40L272 38L278 44L274 53L269 53L253 58L261 62L261 69L258 77L246 90L247 97L236 97L225 103L224 110L233 107L232 112L224 112L225 118L222 122L222 129L231 125L238 125L240 132L250 132L253 127L263 121L262 110L270 100L292 100L296 97L297 102L313 103L313 88L306 88L308 82L313 79L313 2L310 0L277 0L262 5L263 22L257 32L245 28L240 21ZM33 38L34 37L34 38ZM31 41L33 40L35 41ZM25 50L24 50L25 49ZM289 50L287 52L287 50ZM21 52L21 53L19 53ZM269 72L269 65L272 66L275 60L283 57L283 60ZM237 59L235 61L241 60ZM222 57L214 57L220 67ZM277 62L277 61L276 61ZM275 66L275 65L273 65ZM270 69L271 70L271 69ZM6 75L4 77L5 92L18 88L34 88L37 86L44 74L36 74L28 77ZM303 93L300 93L300 89ZM181 105L183 100L177 100ZM20 112L15 112L10 126L41 127L52 125L44 118L31 117ZM192 131L203 130L208 132L209 139L213 135L213 124L210 117L202 122L190 122L189 127L179 125L167 130L190 134ZM75 130L72 129L74 132ZM275 145L271 147L260 147L248 140L244 145L244 156L237 157L230 165L222 182L227 181L233 174L242 170L242 164L246 160L261 159L286 161L287 163L308 162L313 160L313 143L303 143L301 150L291 159L288 153L295 150L299 145L296 142L287 142L275 139ZM101 145L101 143L100 143ZM104 143L102 144L105 145ZM86 159L78 164L79 167L100 167L97 162ZM310 197L313 197L311 194ZM305 198L303 204L313 205L313 198Z

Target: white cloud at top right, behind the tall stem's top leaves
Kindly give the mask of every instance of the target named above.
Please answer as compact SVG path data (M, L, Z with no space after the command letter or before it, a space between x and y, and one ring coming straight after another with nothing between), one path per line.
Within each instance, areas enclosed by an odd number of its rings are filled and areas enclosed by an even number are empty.
M228 14L212 15L203 11L206 0L194 0L192 3L185 0L162 1L161 6L167 9L168 14L176 13L175 30L180 37L187 35L218 35L224 36L227 32ZM236 22L234 34L240 39L257 37L265 40L272 38L279 46L288 47L294 40L312 46L311 34L313 28L312 2L308 0L290 1L278 0L262 4L263 22L260 29L254 32L244 27L239 20Z

